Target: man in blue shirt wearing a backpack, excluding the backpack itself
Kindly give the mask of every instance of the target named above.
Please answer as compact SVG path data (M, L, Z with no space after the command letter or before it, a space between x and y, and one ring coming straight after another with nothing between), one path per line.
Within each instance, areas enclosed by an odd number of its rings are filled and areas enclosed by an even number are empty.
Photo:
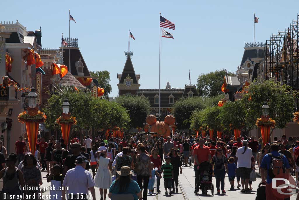
M280 153L278 153L279 150L279 145L277 143L272 143L270 146L270 150L271 150L271 154L275 157L279 157ZM280 200L280 198L278 198L277 196L275 196L275 194L273 193L273 189L272 189L272 178L269 177L269 169L270 169L270 164L272 161L272 157L269 154L266 154L263 157L263 160L261 162L261 177L262 177L262 182L263 183L267 183L266 185L266 199L267 200ZM282 161L283 161L283 165L286 168L286 177L289 177L290 174L290 165L289 165L289 161L287 160L286 156L282 157ZM268 175L267 175L267 182L265 180L265 169L267 169L268 171Z

